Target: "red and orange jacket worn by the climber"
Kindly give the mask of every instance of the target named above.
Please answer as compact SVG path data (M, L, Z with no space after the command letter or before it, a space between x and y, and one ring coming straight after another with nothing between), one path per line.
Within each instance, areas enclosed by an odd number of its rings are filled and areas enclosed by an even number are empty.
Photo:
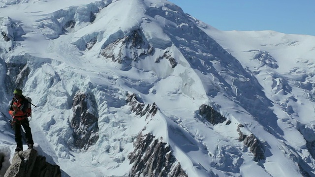
M26 99L23 99L22 96L19 100L13 98L10 102L9 114L15 119L22 120L27 118L27 109L28 101Z

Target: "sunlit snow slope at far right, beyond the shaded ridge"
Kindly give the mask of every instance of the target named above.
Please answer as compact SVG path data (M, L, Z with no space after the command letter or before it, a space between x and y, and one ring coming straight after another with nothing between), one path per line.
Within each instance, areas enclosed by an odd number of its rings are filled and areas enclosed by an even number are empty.
M312 154L314 148L310 146L313 140L309 137L313 134L311 127L315 114L315 36L287 35L275 31L218 31L207 26L199 27L235 56L264 88L267 99L272 103L271 109L277 116L274 121L267 119L269 128L276 125L269 132L278 134L286 144L284 147L292 146L283 149L284 152L308 161L310 154L305 152L308 149ZM313 163L314 159L311 158L311 161ZM313 168L313 164L307 165L309 167Z

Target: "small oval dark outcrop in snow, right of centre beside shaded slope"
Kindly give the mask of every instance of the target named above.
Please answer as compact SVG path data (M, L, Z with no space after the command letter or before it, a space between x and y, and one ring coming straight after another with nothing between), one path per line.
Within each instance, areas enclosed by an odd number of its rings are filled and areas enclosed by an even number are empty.
M206 118L206 120L212 123L213 125L223 123L226 120L226 118L222 116L220 113L218 113L215 109L205 104L202 104L199 107L199 114L203 118Z

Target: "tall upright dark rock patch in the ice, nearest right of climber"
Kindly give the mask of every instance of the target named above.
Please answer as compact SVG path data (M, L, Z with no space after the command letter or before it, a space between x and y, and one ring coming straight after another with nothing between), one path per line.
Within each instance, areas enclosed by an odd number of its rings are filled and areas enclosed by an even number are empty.
M88 149L98 140L98 116L95 99L85 93L77 94L73 98L72 110L71 127L74 131L74 146Z

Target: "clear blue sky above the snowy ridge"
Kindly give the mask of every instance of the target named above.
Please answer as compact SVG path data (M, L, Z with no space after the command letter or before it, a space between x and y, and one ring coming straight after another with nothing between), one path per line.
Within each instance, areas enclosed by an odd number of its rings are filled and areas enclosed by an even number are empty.
M315 36L315 0L169 0L220 30L275 30Z

